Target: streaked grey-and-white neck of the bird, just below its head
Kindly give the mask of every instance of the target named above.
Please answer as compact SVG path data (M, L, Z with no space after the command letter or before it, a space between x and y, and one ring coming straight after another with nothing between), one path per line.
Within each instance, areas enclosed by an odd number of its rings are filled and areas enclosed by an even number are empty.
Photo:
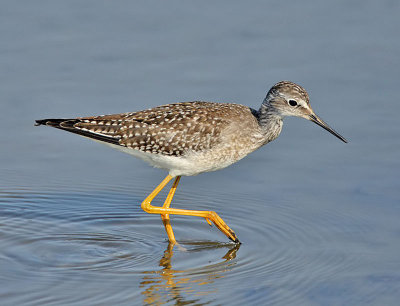
M282 119L282 116L270 104L261 104L258 111L258 124L264 133L266 142L279 136L282 131Z

